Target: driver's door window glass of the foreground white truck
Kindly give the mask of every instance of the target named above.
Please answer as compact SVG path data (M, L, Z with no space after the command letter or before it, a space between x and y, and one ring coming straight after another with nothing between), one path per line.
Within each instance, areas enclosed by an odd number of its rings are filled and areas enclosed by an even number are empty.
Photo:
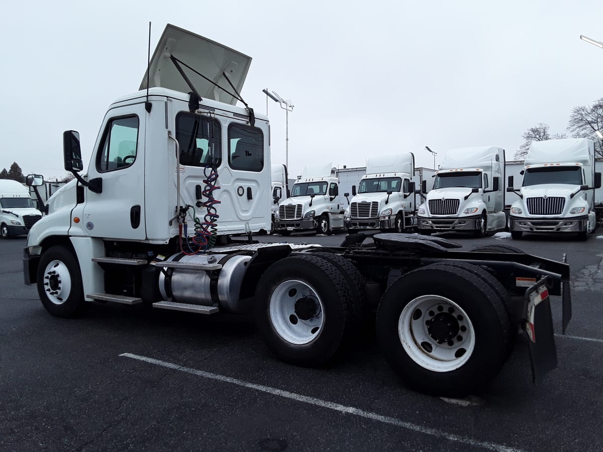
M98 172L114 171L131 166L136 160L138 117L126 116L107 123L98 154Z

